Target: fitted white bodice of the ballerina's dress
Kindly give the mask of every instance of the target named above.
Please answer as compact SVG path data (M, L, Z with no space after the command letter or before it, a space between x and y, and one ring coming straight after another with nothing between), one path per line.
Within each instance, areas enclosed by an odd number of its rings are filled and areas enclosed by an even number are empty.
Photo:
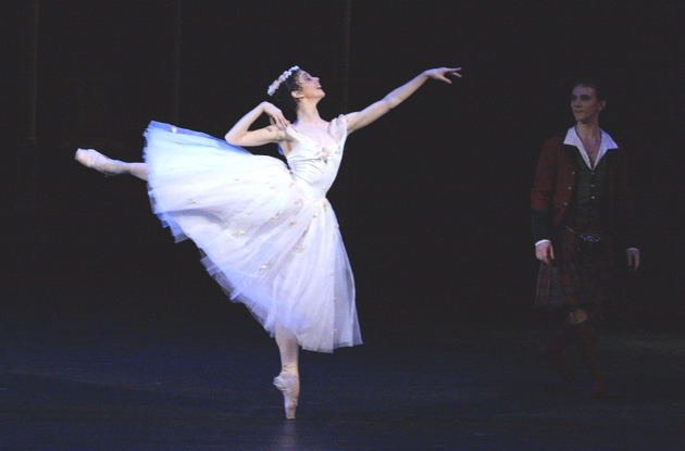
M325 198L335 181L342 159L342 149L347 139L345 117L339 116L328 127L328 133L335 139L332 146L322 146L298 133L294 127L288 127L286 133L298 141L286 156L298 187L309 201Z

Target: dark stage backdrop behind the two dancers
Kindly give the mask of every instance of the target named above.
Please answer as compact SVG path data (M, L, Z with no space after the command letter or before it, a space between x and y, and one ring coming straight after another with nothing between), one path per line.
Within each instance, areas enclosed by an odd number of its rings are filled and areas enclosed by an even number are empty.
M627 149L644 231L625 316L683 318L682 2L71 0L3 9L5 311L247 315L190 242L173 243L140 180L82 167L76 148L138 160L151 120L221 137L294 64L321 77L325 118L454 65L462 79L426 83L347 142L328 198L362 327L531 315L534 166L543 141L572 125L571 85L586 74L610 88L601 126Z

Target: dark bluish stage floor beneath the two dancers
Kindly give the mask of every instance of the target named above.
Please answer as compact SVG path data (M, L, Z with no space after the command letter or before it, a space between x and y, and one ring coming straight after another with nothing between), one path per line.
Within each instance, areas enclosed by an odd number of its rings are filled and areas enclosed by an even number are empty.
M677 330L601 330L610 396L588 400L575 351L575 386L539 360L550 327L371 315L363 346L301 353L286 421L273 340L228 311L3 315L0 449L685 449Z

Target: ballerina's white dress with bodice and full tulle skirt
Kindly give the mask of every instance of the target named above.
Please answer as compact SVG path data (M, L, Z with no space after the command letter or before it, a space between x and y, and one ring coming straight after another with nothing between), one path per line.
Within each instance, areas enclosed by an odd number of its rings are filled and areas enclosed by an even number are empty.
M361 343L354 281L335 213L325 199L347 137L322 149L300 143L278 159L169 124L145 133L152 208L177 241L190 238L229 298L272 335L281 323L303 349L332 352Z

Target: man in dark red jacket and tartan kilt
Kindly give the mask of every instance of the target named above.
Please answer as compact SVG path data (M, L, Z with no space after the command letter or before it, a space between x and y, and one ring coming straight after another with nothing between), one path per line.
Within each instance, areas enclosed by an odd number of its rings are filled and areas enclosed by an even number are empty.
M563 351L575 343L589 369L590 397L607 393L595 326L618 299L613 250L625 249L628 271L639 266L634 246L633 204L624 151L599 128L607 105L599 84L578 80L571 96L576 124L565 137L543 146L531 192L535 256L541 262L537 308L557 308L568 317L543 346L565 380L573 374Z

